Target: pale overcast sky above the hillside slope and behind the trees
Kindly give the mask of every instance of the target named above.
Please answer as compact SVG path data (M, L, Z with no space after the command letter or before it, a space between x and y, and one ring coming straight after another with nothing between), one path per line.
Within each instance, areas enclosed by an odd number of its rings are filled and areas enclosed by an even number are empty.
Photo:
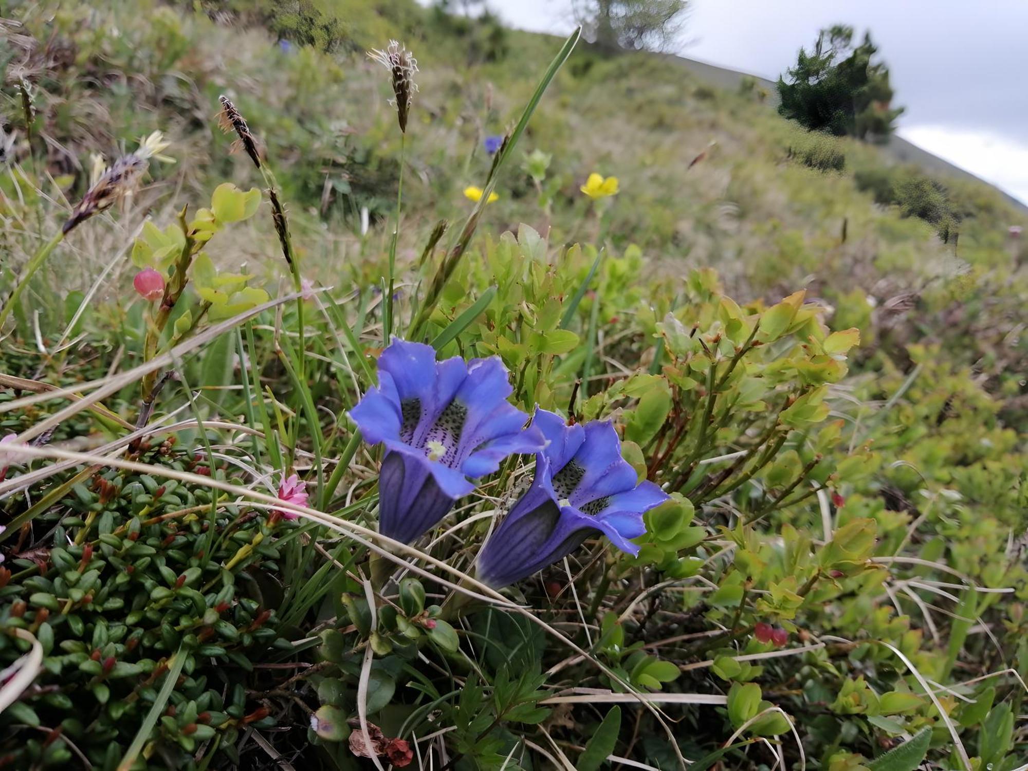
M488 0L514 27L566 33L572 0ZM904 138L1028 203L1028 0L691 0L690 59L775 79L835 23L872 31Z

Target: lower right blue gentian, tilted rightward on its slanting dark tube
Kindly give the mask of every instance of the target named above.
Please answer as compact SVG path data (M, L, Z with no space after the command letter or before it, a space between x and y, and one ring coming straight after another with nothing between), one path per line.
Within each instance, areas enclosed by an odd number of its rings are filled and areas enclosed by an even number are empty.
M668 500L653 482L636 484L610 421L567 426L560 415L537 409L533 427L546 438L536 454L536 478L478 555L479 581L495 589L538 573L599 534L621 551L638 554L629 539L646 533L642 513Z

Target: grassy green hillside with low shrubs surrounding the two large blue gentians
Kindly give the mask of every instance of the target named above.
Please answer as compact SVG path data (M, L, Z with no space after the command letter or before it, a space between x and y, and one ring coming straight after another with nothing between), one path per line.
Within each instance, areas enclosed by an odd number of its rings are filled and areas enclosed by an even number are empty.
M0 765L1021 766L1024 210L407 0L2 9ZM479 583L531 454L383 537L391 333L612 421L638 553Z

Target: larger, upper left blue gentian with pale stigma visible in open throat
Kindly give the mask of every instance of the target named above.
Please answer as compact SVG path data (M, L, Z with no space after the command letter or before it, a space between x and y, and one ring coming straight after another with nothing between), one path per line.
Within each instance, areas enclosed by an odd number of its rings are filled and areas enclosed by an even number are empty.
M431 345L393 338L378 358L378 388L351 416L384 444L378 530L409 544L429 530L505 457L536 452L542 432L507 401L513 389L497 357L436 361Z

